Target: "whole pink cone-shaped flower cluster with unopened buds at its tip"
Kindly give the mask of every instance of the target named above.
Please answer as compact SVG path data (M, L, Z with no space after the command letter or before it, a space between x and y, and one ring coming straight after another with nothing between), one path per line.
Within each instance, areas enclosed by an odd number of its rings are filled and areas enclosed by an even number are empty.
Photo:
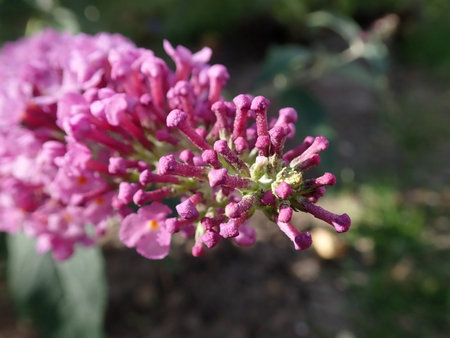
M113 222L120 240L151 259L175 233L194 237L200 256L224 238L255 242L247 220L262 210L293 242L311 245L291 224L294 211L350 227L315 203L335 177L305 179L328 146L295 135L297 113L268 119L262 96L222 97L223 65L211 50L164 42L172 71L152 51L109 34L51 30L0 52L0 230L37 238L39 252L71 256ZM163 204L179 198L176 212Z

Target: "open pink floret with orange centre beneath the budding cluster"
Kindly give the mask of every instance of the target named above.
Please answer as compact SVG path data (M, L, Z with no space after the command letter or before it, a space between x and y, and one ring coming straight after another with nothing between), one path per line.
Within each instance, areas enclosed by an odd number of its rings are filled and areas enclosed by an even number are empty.
M170 250L171 234L166 230L170 208L153 202L140 208L137 214L125 217L120 227L119 238L123 244L136 247L137 252L150 259L162 259Z

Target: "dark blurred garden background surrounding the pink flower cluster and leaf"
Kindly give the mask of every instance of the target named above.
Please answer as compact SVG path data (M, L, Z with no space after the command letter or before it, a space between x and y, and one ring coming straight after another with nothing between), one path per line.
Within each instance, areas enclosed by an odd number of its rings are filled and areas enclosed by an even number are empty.
M316 173L338 184L319 204L347 212L348 233L298 215L314 248L295 252L256 215L254 247L201 258L108 242L105 336L449 337L449 17L448 0L0 0L1 43L51 26L118 32L159 56L164 38L210 46L227 99L265 95L272 114L297 109L297 141L330 140ZM0 337L46 337L13 305L5 242Z

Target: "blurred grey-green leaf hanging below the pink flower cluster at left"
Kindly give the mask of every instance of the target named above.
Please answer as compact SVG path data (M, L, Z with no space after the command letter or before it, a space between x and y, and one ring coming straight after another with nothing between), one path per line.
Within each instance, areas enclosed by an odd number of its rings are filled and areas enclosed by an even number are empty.
M80 248L66 262L35 250L35 240L8 236L8 284L19 314L44 337L103 337L106 306L99 248Z

